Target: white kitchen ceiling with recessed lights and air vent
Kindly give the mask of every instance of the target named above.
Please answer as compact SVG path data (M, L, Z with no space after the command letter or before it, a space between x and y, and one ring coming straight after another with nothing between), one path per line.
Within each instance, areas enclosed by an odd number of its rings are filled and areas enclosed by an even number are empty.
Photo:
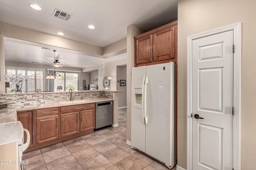
M30 8L36 3L41 11ZM148 31L177 20L178 0L0 0L0 21L57 32L84 43L105 47L126 37L130 24ZM52 16L54 9L73 15L69 21ZM96 29L88 29L93 24Z

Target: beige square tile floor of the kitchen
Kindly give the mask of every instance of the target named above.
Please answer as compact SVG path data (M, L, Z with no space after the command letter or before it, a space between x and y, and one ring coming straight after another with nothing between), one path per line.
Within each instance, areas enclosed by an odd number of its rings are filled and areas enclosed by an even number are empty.
M118 121L118 127L24 153L24 170L168 170L126 144L126 109L118 110Z

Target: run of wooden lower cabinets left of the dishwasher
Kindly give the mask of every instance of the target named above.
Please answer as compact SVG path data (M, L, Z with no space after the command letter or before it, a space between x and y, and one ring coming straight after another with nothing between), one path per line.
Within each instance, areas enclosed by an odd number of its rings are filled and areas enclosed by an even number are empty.
M27 152L92 133L95 103L35 109L18 113L18 119L34 137Z

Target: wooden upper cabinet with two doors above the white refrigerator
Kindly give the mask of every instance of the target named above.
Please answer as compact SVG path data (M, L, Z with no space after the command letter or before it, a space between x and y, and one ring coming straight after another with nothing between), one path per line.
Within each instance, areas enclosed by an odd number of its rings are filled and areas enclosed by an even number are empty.
M176 63L177 24L174 21L134 37L134 66Z

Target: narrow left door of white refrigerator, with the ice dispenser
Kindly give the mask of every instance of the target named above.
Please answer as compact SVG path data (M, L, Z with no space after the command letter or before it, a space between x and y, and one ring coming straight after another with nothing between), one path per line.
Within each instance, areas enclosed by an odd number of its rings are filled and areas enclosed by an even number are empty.
M131 109L131 145L145 152L145 124L142 115L142 105L135 99L135 88L142 90L143 77L146 76L146 66L132 67L132 109Z

